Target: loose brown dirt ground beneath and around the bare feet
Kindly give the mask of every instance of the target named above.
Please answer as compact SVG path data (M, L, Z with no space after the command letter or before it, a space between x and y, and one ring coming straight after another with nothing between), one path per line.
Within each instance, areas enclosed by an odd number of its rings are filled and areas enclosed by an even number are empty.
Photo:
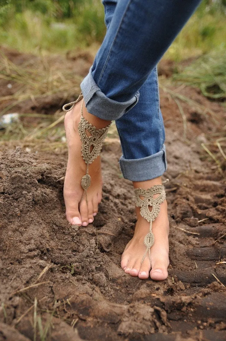
M219 103L196 89L179 92L226 124ZM226 182L200 146L219 126L183 102L184 140L177 104L166 91L160 98L170 219L169 276L162 282L120 268L136 220L117 139L108 139L102 150L99 212L93 224L80 228L65 219L66 152L28 150L22 142L1 146L0 341L226 339L226 265L218 264L226 261Z

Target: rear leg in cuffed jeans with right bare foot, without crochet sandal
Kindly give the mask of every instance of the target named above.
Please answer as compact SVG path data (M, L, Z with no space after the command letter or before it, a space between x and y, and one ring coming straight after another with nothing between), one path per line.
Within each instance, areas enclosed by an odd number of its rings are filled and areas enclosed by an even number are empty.
M165 131L159 108L159 91L156 68L151 72L145 84L140 88L139 102L121 118L116 125L122 145L123 156L119 163L123 176L133 181L134 188L148 189L161 184L161 175L166 170ZM134 236L127 244L122 255L121 266L131 276L155 280L167 277L168 232L166 200L161 204L159 216L152 224L155 243L151 247L151 265L145 252L144 237L148 233L149 223L141 216L136 207L138 221Z

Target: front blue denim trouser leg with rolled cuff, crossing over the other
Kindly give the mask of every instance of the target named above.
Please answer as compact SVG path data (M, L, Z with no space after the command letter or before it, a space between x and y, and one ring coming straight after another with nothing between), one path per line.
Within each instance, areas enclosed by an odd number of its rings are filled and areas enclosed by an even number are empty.
M87 111L114 120L135 105L139 89L199 3L118 0L90 73L81 84Z

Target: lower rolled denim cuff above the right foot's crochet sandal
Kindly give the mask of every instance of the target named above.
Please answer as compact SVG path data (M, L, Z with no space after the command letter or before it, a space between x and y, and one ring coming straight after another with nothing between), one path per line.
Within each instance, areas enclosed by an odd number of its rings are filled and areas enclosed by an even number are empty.
M163 175L167 168L165 145L158 153L146 158L128 160L122 156L119 165L123 177L130 181L155 179Z

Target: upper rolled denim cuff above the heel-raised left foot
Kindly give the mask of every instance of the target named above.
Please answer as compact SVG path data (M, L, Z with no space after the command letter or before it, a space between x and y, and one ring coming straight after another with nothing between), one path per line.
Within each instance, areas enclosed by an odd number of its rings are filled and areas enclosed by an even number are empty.
M122 117L139 99L139 92L126 102L117 102L108 98L96 85L92 76L92 67L81 83L81 90L88 113L106 121Z

